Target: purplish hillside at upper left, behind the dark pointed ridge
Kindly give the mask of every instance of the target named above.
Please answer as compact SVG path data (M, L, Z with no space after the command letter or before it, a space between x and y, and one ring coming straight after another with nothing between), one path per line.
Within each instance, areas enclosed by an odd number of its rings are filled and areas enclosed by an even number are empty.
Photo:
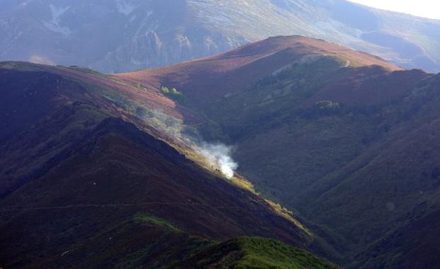
M89 70L4 62L0 74L0 195L29 181L29 175L68 147L75 135L84 135L103 118L132 120L152 132L149 126L157 118L181 118L167 98Z

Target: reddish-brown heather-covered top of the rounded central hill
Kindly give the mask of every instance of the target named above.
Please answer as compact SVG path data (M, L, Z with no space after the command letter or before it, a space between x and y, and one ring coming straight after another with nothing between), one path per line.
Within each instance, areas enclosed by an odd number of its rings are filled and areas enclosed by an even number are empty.
M192 108L208 106L220 98L231 96L266 76L289 69L293 64L307 64L322 58L334 59L338 67L377 65L385 70L400 69L373 55L348 50L324 40L279 36L215 57L115 76L140 82L157 91L161 86L177 87L186 97L186 107Z

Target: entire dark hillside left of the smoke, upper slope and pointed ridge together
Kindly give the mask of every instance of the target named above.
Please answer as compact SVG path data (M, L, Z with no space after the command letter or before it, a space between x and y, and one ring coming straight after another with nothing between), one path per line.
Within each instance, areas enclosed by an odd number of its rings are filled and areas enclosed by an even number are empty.
M163 96L88 70L0 66L6 268L162 268L245 235L326 255L288 213L187 159L179 151L191 149L142 118L154 97L162 120L179 120Z

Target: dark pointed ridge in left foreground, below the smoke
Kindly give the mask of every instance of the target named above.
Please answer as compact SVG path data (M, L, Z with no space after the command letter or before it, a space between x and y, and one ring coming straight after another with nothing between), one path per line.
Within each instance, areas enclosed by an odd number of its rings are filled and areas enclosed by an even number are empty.
M244 234L298 246L310 240L264 200L206 174L121 120L104 120L81 140L58 156L50 171L1 200L6 266L96 267L130 258L165 263L174 257L156 261L160 257L147 248L182 257L207 244L203 238ZM164 228L171 231L157 237ZM174 250L169 241L179 238L188 239Z

